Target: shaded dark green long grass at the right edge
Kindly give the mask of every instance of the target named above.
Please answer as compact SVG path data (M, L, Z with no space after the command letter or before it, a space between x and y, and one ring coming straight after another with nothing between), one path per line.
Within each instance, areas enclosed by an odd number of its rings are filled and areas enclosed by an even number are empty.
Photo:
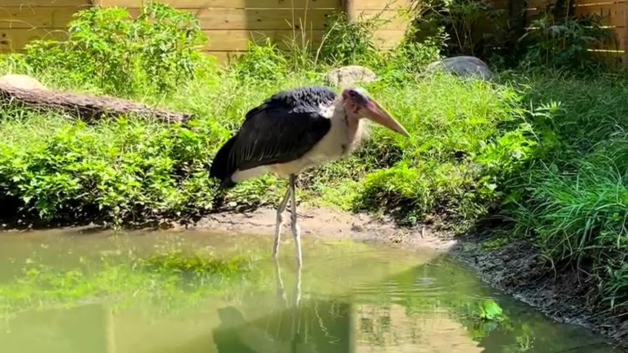
M609 77L534 77L528 104L538 145L504 178L502 213L551 263L575 264L590 299L625 312L628 92Z

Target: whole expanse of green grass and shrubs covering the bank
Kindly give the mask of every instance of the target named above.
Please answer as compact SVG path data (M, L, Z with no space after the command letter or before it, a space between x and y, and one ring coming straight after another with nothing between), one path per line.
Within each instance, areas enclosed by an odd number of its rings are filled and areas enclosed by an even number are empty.
M531 239L554 264L588 271L595 303L628 305L624 79L544 68L498 73L494 82L418 79L438 58L438 40L378 53L371 41L342 30L330 31L320 52L295 47L284 55L268 42L224 67L191 49L203 40L198 26L189 24L192 35L183 35L176 23L188 18L151 6L148 12L165 16L156 24L126 20L117 9L80 14L69 45L34 43L24 55L3 57L0 73L191 112L190 127L134 116L88 125L4 104L3 222L129 225L274 205L286 182L271 175L241 183L219 204L208 178L213 156L249 109L278 90L325 84L335 63L322 58L355 61L347 49L355 48L364 53L359 63L379 75L365 88L411 137L373 127L354 155L300 175L300 200L388 212L408 225L437 216L460 232L502 214L512 237ZM116 36L102 35L114 30ZM161 55L164 48L180 50Z

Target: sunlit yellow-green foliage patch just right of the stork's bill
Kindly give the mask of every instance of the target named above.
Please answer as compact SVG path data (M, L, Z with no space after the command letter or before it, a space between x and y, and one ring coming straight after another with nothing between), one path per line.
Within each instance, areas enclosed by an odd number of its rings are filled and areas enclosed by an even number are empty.
M381 170L367 170L355 209L403 210L395 212L409 222L439 214L466 227L502 196L496 186L503 175L533 156L521 96L509 87L437 75L403 87L369 85L369 91L411 137L372 131L364 148L388 163L369 161Z

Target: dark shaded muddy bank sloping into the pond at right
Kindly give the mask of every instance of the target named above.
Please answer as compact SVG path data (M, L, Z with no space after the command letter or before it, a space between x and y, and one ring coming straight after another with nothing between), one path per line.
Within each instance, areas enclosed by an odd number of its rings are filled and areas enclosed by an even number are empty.
M486 249L482 238L477 234L459 237L450 254L495 288L558 322L576 323L605 335L612 345L628 352L628 320L590 308L587 293L595 288L582 272L567 266L543 266L543 258L528 241Z

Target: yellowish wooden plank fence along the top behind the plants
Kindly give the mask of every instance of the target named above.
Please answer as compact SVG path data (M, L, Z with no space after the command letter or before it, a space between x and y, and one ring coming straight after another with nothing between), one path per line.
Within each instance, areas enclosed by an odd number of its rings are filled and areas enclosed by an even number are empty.
M246 50L249 40L271 38L284 46L286 40L306 33L316 46L322 41L327 18L343 9L350 17L382 14L389 19L375 33L382 49L391 48L403 38L409 20L400 9L416 0L161 0L185 9L200 20L209 37L204 48L224 61L230 54ZM493 0L495 8L517 16L524 10L527 23L544 5L555 0ZM605 26L615 33L614 43L592 50L622 57L628 46L628 0L573 0L576 13L602 16ZM0 52L19 51L34 38L65 38L65 26L72 14L94 6L121 6L137 14L143 0L0 0ZM529 29L528 30L533 30Z

